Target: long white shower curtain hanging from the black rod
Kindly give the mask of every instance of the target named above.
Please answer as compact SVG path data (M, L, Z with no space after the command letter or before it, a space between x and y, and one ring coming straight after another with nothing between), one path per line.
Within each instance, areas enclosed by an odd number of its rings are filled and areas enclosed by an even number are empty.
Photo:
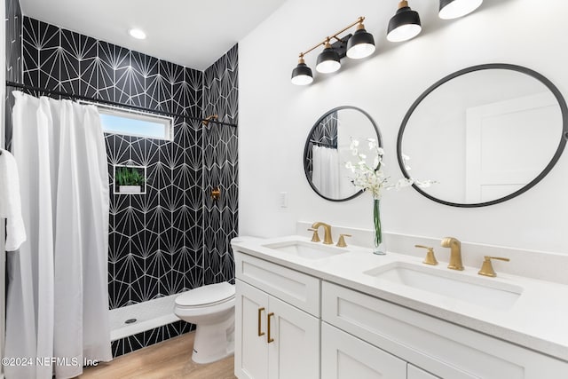
M4 372L70 378L86 359L112 359L104 135L96 107L13 93L28 241L7 257L5 356L29 360Z

